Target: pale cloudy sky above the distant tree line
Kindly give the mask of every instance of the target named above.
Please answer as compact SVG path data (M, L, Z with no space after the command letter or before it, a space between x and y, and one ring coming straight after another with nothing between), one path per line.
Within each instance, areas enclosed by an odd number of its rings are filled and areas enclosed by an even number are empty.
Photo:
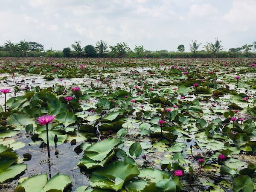
M81 41L177 51L192 40L224 50L256 41L256 0L1 0L0 44L36 41L62 50Z

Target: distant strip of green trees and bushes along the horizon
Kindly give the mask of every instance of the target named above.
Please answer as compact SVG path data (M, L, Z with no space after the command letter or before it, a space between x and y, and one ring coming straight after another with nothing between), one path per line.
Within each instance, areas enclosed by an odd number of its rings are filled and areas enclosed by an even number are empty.
M244 44L242 47L230 48L223 51L223 46L218 38L215 42L207 42L199 50L201 43L197 40L189 44L191 52L185 52L185 46L180 44L177 52L169 52L167 50L149 51L145 50L143 45L136 45L131 49L125 42L119 42L116 45L109 45L105 41L97 41L95 47L87 45L83 47L81 41L75 41L70 47L64 48L62 51L52 49L45 50L42 44L22 40L19 43L6 41L0 46L0 57L129 57L129 58L238 58L238 57L256 57L256 41L253 44ZM108 50L109 48L109 50Z

